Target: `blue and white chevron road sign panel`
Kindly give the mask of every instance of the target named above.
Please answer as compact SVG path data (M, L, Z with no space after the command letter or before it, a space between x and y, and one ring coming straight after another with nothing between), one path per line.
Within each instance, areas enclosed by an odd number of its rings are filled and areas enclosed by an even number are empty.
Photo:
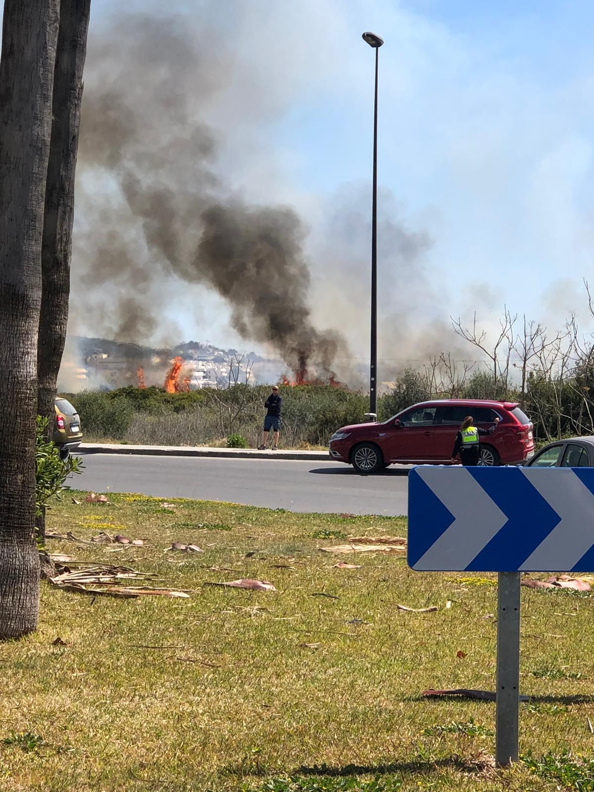
M408 562L434 572L594 571L594 468L413 468Z

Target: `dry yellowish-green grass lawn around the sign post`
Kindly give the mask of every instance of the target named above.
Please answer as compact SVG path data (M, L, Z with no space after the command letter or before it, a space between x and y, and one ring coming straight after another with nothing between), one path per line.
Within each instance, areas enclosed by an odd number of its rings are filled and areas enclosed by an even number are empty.
M318 549L406 535L403 518L109 499L55 503L48 530L144 546L49 540L51 552L131 565L191 596L120 600L42 584L37 633L0 645L2 792L594 790L581 759L594 749L594 597L523 589L526 758L494 771L494 704L420 695L494 690L494 576ZM173 541L204 553L164 552ZM241 577L276 592L205 585Z

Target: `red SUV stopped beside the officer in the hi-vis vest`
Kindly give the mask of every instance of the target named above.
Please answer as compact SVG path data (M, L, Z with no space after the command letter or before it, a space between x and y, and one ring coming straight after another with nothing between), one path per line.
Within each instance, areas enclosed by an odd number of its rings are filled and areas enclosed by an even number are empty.
M480 438L479 465L514 465L534 455L532 422L516 402L453 398L421 402L381 424L343 426L330 437L330 459L350 463L359 473L377 473L393 462L448 463L467 415L484 428L501 418L493 434Z

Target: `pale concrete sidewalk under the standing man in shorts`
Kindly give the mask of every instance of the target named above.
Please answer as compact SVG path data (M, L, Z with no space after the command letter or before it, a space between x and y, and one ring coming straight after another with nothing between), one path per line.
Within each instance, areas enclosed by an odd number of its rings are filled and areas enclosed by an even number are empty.
M256 448L211 448L208 446L133 446L82 443L74 453L131 454L145 456L210 456L226 459L302 459L332 462L328 451L257 451Z

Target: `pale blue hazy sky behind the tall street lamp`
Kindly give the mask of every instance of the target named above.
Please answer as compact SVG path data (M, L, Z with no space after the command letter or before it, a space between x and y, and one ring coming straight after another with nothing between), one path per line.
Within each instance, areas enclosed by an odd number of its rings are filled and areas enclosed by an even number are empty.
M115 7L93 0L91 36ZM581 280L594 280L594 4L196 0L159 13L186 14L199 38L224 31L234 67L204 110L220 135L220 172L249 199L303 215L314 317L343 329L357 356L367 348L367 29L385 40L379 211L431 240L406 262L379 240L384 354L406 347L394 317L406 324L411 310L438 326L477 310L493 327L506 303L550 327L577 311L585 329ZM356 217L356 233L343 226L329 238L341 210ZM183 337L250 346L230 329L219 298L180 291ZM415 333L402 355L416 356Z

